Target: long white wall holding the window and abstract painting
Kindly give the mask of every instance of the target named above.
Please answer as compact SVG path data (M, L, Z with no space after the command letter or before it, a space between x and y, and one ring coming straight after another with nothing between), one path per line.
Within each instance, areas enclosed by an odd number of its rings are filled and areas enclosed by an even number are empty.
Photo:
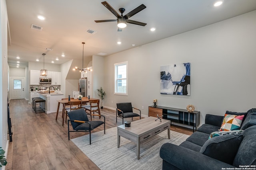
M148 115L148 106L186 109L205 114L247 111L256 96L256 11L155 41L104 58L104 106L132 102ZM114 95L114 63L128 61L128 96ZM191 96L160 94L160 66L191 63ZM95 67L94 67L95 70ZM113 101L113 103L112 103Z

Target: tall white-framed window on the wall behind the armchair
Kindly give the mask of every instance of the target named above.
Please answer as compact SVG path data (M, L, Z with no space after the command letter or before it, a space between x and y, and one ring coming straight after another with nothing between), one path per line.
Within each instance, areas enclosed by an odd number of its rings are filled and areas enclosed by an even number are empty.
M114 94L120 94L120 95L128 95L127 93L127 65L128 62L122 62L122 63L116 63L114 64L114 70L115 70L115 89Z

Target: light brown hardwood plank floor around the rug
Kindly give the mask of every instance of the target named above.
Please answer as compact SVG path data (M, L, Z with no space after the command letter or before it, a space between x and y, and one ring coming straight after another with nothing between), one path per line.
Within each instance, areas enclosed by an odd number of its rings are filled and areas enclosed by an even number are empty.
M122 124L116 111L101 109L106 117L106 129ZM34 113L31 104L26 100L10 100L10 117L12 121L12 142L9 143L7 170L99 170L99 168L72 141L68 141L67 123L62 126L62 113ZM98 118L94 118L98 119ZM138 120L135 117L133 120ZM127 120L131 121L131 118ZM93 130L102 131L104 126ZM178 126L171 130L187 135L191 129ZM107 133L107 131L106 131ZM80 137L88 133L70 133L70 138ZM85 141L89 142L89 141ZM93 139L92 139L93 145Z

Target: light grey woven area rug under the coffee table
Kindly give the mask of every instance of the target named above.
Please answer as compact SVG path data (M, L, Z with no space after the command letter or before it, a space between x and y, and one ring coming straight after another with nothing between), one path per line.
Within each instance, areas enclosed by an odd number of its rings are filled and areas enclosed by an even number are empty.
M136 143L120 137L117 148L117 128L92 133L92 145L89 135L72 139L73 143L86 154L101 170L161 170L162 158L159 151L164 143L180 145L189 135L170 131L159 133L140 143L140 159L136 156Z

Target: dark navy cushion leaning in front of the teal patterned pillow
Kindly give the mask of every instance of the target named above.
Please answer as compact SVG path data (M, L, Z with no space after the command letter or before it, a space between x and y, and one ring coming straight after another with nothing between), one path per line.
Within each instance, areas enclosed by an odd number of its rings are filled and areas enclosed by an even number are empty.
M199 152L232 165L242 139L243 135L213 137L206 141Z

